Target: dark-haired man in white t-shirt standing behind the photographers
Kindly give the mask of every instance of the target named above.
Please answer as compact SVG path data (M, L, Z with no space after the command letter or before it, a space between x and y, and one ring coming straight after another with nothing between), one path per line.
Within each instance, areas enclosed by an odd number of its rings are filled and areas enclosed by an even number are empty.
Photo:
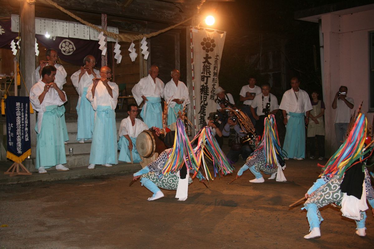
M239 100L243 101L242 112L244 112L251 119L253 125L255 125L256 120L253 118L251 113L251 104L256 94L261 93L261 88L256 86L256 78L250 76L248 80L248 85L245 85L240 90Z

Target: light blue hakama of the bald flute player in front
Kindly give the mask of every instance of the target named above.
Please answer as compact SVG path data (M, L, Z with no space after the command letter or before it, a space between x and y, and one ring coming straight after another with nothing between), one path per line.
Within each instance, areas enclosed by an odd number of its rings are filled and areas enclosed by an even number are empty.
M89 163L118 164L116 113L110 106L97 106Z

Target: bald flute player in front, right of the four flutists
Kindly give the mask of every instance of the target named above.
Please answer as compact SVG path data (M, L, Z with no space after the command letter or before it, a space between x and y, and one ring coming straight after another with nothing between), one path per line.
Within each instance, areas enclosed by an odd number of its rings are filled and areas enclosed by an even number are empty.
M86 98L95 110L89 169L95 164L112 167L118 164L116 113L118 85L110 82L112 72L107 66L100 69L101 79L95 78L87 89Z

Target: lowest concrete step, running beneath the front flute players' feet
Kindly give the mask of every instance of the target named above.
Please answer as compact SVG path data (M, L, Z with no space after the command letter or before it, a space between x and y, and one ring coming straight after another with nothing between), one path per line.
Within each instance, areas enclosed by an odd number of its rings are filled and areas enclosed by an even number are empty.
M9 164L9 165L8 165ZM9 168L11 162L7 162L6 165L1 165L1 169L6 171ZM78 179L84 177L98 177L104 175L119 175L119 174L129 174L135 173L141 170L140 164L128 164L119 163L113 165L113 167L105 167L101 165L96 165L95 169L89 170L87 166L80 166L71 168L68 171L57 171L54 167L50 170L47 169L46 174L39 174L34 172L31 176L18 175L12 176L6 174L0 174L0 184L10 184L10 183L25 183L25 182L36 182L36 181L55 181L55 180L68 180L68 179ZM130 183L130 182L129 182Z

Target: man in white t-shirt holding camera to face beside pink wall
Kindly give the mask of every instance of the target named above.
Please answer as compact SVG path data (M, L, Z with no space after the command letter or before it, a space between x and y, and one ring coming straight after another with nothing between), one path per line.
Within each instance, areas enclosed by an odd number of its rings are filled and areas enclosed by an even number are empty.
M335 116L335 135L338 147L340 147L345 140L344 136L347 133L350 121L350 110L355 106L353 98L347 97L347 92L347 86L340 86L339 91L335 94L334 101L332 101L332 109L337 109Z

